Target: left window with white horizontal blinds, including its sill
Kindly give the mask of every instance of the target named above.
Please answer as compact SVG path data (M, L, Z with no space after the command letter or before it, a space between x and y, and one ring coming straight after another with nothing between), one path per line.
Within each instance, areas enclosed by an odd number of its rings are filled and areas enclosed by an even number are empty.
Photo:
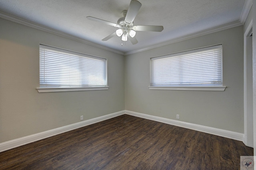
M38 92L106 90L106 59L40 45Z

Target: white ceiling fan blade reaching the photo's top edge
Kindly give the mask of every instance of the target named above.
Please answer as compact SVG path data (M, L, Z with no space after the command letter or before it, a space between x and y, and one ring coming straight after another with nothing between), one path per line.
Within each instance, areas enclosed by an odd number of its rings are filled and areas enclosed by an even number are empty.
M130 6L128 8L126 17L125 17L125 21L127 23L132 23L134 18L136 17L136 15L138 14L138 11L140 10L141 7L141 3L136 1L136 0L132 0L130 2Z

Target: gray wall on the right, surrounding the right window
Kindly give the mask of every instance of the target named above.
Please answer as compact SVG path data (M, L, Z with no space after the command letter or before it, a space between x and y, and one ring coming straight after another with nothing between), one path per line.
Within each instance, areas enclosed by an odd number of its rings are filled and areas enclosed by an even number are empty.
M125 109L244 133L243 26L125 57ZM224 92L149 90L150 58L222 44Z

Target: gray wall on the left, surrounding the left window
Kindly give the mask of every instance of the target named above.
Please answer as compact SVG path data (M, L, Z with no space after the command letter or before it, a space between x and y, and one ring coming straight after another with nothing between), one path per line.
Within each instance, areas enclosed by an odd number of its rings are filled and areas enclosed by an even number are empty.
M39 44L108 59L109 90L38 93ZM0 143L124 110L124 56L0 18Z

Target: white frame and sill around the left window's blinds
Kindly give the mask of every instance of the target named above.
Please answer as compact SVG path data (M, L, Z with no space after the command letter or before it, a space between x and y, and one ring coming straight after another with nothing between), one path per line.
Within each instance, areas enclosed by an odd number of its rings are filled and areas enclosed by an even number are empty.
M70 51L70 50L66 50L66 49L61 49L58 47L52 47L52 46L48 46L48 45L39 45L39 50L41 48L44 49L49 49L49 50L54 50L54 51L58 51L60 53L68 53L69 55L76 55L78 57L86 57L91 58L91 59L100 59L102 61L104 61L105 63L105 82L106 85L99 85L99 86L50 86L50 85L44 85L41 84L41 82L39 81L39 85L40 87L36 88L38 90L39 93L44 93L44 92L74 92L74 91L88 91L88 90L108 90L108 77L107 77L107 59L102 58L102 57L97 57L97 56L92 56L92 55L88 55L88 54L84 54L84 53L78 53L75 51ZM40 66L39 66L40 67Z

